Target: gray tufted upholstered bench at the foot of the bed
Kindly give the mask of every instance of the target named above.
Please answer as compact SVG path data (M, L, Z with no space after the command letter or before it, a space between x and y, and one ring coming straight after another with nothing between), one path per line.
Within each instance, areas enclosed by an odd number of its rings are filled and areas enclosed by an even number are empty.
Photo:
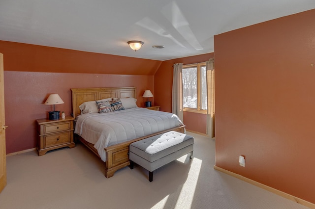
M159 167L193 152L192 136L184 133L169 131L151 136L129 145L130 168L137 163L149 171L149 181L153 181L153 171Z

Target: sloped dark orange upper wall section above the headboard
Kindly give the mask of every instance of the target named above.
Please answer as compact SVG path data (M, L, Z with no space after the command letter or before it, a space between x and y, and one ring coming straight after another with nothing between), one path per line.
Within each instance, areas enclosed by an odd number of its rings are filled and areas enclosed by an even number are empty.
M5 55L5 71L154 75L162 63L8 41L0 41L0 50Z

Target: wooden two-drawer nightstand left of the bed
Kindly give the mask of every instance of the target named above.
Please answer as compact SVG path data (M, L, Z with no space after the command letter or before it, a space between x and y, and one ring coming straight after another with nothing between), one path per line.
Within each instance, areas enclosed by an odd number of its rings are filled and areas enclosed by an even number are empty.
M73 148L73 121L71 116L59 120L37 119L38 156L62 147Z

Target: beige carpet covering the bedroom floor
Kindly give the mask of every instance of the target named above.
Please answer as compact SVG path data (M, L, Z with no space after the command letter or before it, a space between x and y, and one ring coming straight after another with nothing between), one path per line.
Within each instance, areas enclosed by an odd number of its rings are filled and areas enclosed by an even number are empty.
M306 209L293 201L213 169L215 141L195 137L194 157L154 172L140 166L104 177L104 164L77 144L38 157L7 157L0 209Z

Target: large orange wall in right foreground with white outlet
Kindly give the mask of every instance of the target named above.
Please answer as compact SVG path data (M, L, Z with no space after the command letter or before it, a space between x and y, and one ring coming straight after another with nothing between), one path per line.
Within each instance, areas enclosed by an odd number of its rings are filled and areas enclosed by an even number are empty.
M314 20L216 35L215 88L216 166L315 204Z

